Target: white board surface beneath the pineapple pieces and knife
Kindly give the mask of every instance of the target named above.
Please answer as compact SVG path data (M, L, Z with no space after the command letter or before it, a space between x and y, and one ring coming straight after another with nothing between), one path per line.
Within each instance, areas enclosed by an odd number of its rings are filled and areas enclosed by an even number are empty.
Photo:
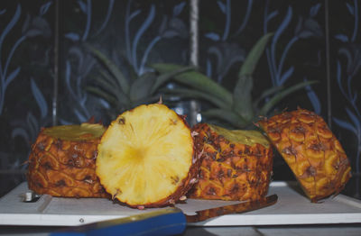
M115 204L108 199L74 199L42 195L36 203L23 203L21 194L28 191L23 183L0 199L0 225L72 226L126 217L132 214L156 211L136 210ZM272 206L248 213L219 216L194 226L274 226L297 224L361 223L361 201L346 195L310 203L295 182L273 182L269 195L278 195ZM236 202L188 199L176 204L183 213L217 207ZM361 233L360 233L361 235Z

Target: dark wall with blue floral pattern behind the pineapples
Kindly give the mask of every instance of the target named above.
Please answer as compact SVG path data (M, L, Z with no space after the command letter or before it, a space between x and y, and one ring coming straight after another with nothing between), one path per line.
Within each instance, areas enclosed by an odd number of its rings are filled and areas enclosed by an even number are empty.
M360 9L356 0L199 0L199 70L232 90L255 42L273 33L256 65L252 95L316 81L273 110L301 106L325 118L352 164L344 192L358 198ZM189 65L190 1L0 2L0 195L24 180L41 127L90 117L108 123L127 107L122 97L116 104L92 93L102 83L99 77L106 78L94 50L128 81L151 75L152 63ZM190 109L186 101L171 105L184 113ZM207 106L199 101L200 110ZM293 179L280 157L273 172L276 180Z

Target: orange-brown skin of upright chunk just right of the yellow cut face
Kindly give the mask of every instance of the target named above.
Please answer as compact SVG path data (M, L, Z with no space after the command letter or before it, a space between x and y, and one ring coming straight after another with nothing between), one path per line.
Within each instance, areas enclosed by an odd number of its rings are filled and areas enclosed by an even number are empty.
M190 198L247 201L267 194L273 169L271 145L229 141L207 123L196 124L193 132L198 133L195 141L201 164Z

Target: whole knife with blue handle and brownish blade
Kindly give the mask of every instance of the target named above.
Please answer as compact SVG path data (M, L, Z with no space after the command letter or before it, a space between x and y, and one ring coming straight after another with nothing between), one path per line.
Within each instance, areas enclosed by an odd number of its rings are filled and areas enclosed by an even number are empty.
M257 201L210 208L197 211L191 215L182 213L177 207L164 208L151 213L141 213L115 220L67 227L52 232L51 236L175 235L181 234L186 229L187 222L201 222L224 214L254 211L275 204L277 199L277 195L270 195Z

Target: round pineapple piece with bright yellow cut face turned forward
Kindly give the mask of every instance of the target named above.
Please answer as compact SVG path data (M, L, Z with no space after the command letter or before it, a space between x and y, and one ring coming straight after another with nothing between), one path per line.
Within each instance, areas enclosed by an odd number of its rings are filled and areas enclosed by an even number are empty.
M184 200L196 181L189 126L164 104L120 114L98 145L97 176L106 191L132 207Z

